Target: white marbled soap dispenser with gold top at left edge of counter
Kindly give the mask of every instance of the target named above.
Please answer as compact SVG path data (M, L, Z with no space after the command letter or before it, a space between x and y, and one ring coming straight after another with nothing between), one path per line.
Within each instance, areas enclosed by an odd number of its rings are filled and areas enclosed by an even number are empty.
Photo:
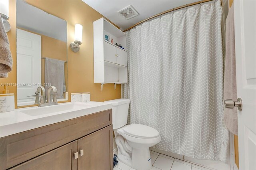
M4 85L3 94L0 94L0 112L14 111L14 93L9 93Z

